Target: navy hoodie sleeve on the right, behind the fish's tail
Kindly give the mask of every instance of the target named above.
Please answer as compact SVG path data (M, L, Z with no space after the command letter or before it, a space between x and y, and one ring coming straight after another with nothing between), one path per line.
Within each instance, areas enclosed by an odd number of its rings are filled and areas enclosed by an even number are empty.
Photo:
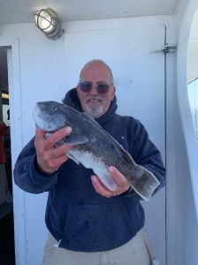
M141 123L136 120L133 125L133 140L131 145L131 154L135 163L140 164L151 171L160 185L157 186L153 195L165 185L165 168L162 156L156 146L148 139L148 133ZM126 196L133 197L134 200L142 200L141 196L129 189Z

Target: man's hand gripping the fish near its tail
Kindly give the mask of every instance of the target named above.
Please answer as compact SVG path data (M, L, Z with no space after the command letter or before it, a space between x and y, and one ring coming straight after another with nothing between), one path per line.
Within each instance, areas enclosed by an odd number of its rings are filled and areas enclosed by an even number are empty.
M91 180L92 180L92 184L95 187L95 192L101 194L104 197L110 198L112 196L116 196L119 195L121 193L125 193L130 185L128 184L126 177L123 176L122 173L120 173L119 170L117 170L117 168L110 166L109 168L110 174L112 175L112 177L114 178L114 180L116 181L118 188L115 192L110 192L110 190L108 188L106 188L105 186L103 186L103 184L101 183L100 179L97 176L92 176Z

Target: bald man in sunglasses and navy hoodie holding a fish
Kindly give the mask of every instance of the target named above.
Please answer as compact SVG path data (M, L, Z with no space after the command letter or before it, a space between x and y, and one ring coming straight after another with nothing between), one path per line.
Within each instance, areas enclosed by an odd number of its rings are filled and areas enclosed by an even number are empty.
M155 174L160 182L157 190L164 186L161 155L143 125L133 117L116 114L115 87L107 64L88 62L80 72L78 86L65 95L64 103L94 117L136 163ZM37 128L14 169L15 182L25 191L49 191L46 224L50 237L42 264L151 264L141 230L141 197L115 167L109 169L118 184L113 193L92 170L68 158L66 152L72 145L55 148L56 142L71 132L72 128L66 127L46 140L45 132Z

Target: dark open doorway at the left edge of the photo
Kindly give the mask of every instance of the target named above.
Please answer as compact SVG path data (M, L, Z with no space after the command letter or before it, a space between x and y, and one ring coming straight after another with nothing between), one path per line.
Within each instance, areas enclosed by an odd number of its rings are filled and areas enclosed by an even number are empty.
M0 47L0 177L0 264L14 265L10 105L6 47Z

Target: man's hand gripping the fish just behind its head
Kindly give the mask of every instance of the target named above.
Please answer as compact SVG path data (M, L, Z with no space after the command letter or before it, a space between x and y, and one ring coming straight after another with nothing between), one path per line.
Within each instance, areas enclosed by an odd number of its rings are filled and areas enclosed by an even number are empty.
M59 147L55 147L55 145L58 140L63 139L70 133L72 133L72 128L65 127L51 134L49 138L46 139L45 132L36 128L34 146L38 166L43 172L52 174L68 159L65 153L70 150L73 145L64 144Z

